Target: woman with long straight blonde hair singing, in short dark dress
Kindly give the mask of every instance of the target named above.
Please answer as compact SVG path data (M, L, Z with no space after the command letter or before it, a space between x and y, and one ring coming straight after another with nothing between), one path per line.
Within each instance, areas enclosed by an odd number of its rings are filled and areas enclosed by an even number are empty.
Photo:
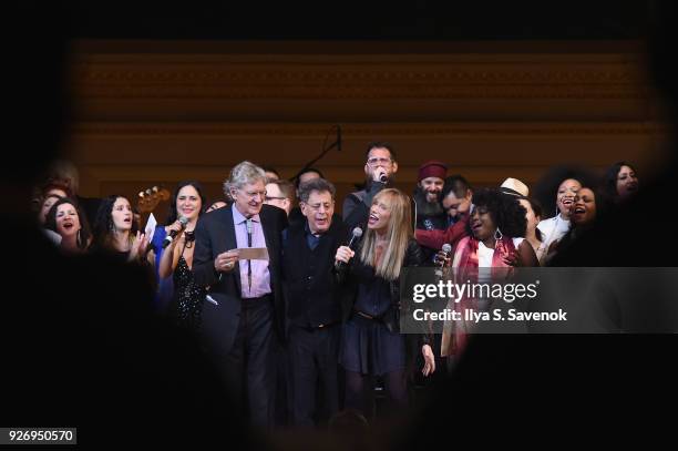
M346 370L346 408L366 413L371 409L364 388L373 387L374 377L382 377L391 401L404 407L408 373L420 349L424 376L435 370L427 337L401 335L398 320L401 271L423 260L410 205L410 198L398 189L379 192L359 248L337 249L336 260L346 264L339 265L338 278L348 294L339 359Z

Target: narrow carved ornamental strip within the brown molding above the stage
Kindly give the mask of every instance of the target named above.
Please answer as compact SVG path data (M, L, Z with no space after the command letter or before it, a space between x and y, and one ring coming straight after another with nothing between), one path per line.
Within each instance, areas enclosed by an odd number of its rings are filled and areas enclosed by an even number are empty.
M192 66L186 70L75 68L75 92L92 99L183 100L454 100L454 99L643 99L646 88L634 68L535 66L516 71L506 63L486 70L459 64L438 68Z

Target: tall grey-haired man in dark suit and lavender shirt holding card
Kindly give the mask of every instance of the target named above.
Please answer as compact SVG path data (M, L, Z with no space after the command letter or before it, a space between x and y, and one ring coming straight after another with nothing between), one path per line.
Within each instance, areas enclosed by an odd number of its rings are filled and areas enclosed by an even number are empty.
M247 399L251 422L266 427L274 419L276 332L284 330L280 243L287 216L264 205L266 175L250 162L232 170L224 192L233 204L195 228L193 270L209 287L203 335L234 392ZM240 259L237 249L248 247L266 248L268 259Z

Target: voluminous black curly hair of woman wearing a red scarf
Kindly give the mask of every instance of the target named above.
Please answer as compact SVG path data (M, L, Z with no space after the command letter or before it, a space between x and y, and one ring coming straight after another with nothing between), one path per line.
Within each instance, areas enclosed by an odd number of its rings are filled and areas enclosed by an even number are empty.
M481 188L473 193L475 208L485 207L494 224L503 235L512 238L524 237L527 228L527 212L517 202L516 196L503 194L497 188ZM466 226L471 233L471 222Z

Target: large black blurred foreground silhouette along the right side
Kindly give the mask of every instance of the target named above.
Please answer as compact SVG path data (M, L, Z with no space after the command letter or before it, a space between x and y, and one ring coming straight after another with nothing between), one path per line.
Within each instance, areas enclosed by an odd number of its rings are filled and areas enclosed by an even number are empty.
M670 113L666 119L675 127L678 6L651 6L650 70ZM597 222L554 264L676 266L678 243L670 239L676 226L667 213L678 180L675 146L672 140L662 173L654 180L644 175L635 197ZM645 281L633 280L626 298L616 300L617 308L626 309L624 331L631 334L473 337L446 388L417 416L402 449L427 449L441 437L471 437L480 443L484 437L474 435L477 430L501 437L504 444L540 437L562 443L587 432L614 440L644 430L644 422L661 421L657 401L674 406L677 396L676 294ZM674 334L633 334L667 331Z

